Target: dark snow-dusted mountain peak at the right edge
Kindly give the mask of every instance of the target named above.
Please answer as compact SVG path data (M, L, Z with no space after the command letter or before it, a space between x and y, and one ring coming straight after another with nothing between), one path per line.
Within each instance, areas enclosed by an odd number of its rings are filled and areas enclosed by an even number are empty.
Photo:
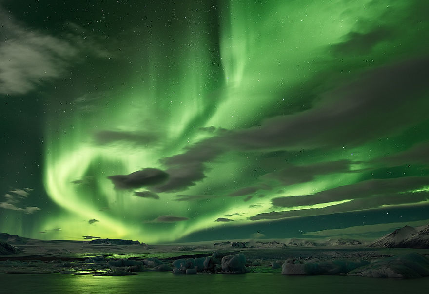
M417 232L413 227L405 226L385 235L368 247L398 247L429 249L429 225Z

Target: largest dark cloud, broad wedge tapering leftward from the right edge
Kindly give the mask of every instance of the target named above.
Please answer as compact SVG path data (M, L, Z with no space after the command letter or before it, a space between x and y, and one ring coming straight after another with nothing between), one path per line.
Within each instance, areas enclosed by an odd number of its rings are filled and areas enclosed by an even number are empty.
M426 119L428 66L429 58L425 57L368 71L321 95L312 109L270 118L260 126L230 132L217 140L241 150L297 150L356 146L398 133Z

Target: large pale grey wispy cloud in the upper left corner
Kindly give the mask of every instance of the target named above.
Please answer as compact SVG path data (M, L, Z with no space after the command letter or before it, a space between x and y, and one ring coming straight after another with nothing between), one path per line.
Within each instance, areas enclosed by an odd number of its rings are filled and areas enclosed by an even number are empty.
M21 95L67 75L72 63L85 55L110 54L93 38L95 34L68 23L58 38L20 24L0 7L0 94Z

